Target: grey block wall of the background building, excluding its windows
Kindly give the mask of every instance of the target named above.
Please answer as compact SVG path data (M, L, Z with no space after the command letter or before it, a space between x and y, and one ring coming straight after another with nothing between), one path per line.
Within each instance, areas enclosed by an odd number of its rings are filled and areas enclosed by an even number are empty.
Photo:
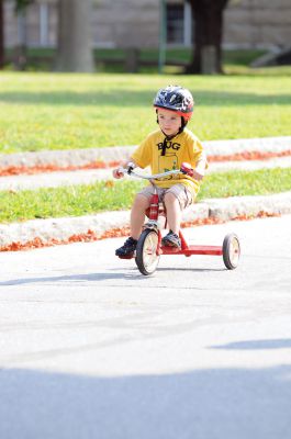
M169 0L181 3L183 0ZM26 13L27 45L40 40L41 2L49 4L48 41L57 40L57 0L36 0ZM19 42L14 2L7 0L5 45ZM159 38L158 0L93 0L92 33L94 46L157 47ZM288 47L291 42L291 0L231 0L224 14L224 46Z

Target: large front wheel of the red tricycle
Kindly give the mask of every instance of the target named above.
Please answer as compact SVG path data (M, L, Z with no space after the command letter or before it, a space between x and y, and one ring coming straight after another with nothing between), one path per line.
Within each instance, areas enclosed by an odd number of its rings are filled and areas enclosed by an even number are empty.
M156 230L145 229L136 246L135 262L142 274L153 274L159 262L157 255L158 234Z

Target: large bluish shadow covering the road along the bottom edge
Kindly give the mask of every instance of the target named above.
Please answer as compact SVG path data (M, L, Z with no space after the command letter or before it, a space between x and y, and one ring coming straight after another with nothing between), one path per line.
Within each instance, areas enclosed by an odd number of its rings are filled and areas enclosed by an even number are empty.
M287 438L290 376L289 365L120 378L2 369L0 437Z

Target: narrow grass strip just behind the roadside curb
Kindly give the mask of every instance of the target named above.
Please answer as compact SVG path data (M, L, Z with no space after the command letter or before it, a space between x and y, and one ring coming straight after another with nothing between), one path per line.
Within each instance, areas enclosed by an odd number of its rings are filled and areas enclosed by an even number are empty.
M141 182L98 182L92 185L0 192L0 222L81 216L103 211L127 210ZM265 195L291 190L291 169L268 169L210 175L198 201L234 195Z

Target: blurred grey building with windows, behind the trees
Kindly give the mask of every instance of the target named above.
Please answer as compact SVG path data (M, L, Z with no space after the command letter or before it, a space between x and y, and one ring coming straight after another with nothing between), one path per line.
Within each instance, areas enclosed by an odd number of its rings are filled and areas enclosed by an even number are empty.
M165 0L167 44L190 46L191 9L184 0ZM157 47L161 0L93 0L92 35L96 47ZM7 47L26 44L54 47L57 0L37 0L15 16L12 0L4 2ZM291 41L291 1L231 0L224 14L224 47L283 48Z

